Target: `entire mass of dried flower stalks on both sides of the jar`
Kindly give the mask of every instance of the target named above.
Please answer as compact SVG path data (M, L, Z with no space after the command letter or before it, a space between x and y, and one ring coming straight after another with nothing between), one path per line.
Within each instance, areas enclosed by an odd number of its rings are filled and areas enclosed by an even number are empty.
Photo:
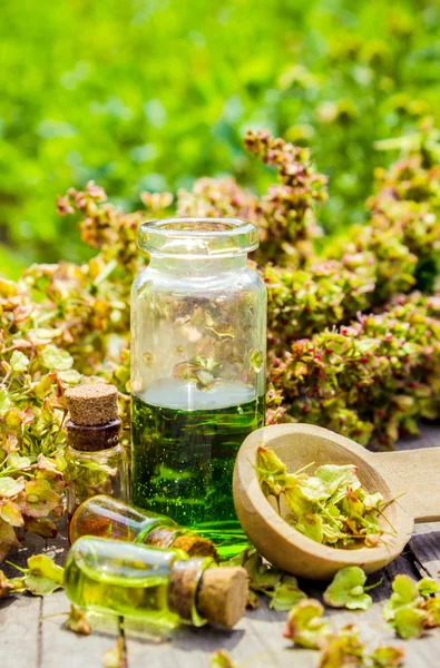
M407 155L378 173L368 225L319 256L316 205L326 178L309 151L267 131L246 147L275 168L257 196L233 178L179 191L176 213L241 216L261 230L255 261L270 295L267 422L314 422L391 446L439 409L440 336L433 292L439 255L437 135L402 140ZM407 148L405 148L407 147ZM65 487L63 390L98 375L120 391L128 428L129 291L143 258L137 227L160 217L169 193L145 193L145 212L125 214L94 183L58 200L97 254L77 266L31 266L0 281L0 558L22 531L55 533ZM322 244L320 243L322 246ZM400 296L398 296L398 293ZM359 315L360 314L360 315Z

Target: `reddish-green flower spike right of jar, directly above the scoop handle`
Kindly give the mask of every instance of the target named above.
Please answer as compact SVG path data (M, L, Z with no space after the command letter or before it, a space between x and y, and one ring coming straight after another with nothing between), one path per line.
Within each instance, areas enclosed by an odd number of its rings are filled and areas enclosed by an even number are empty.
M400 297L379 315L295 341L272 358L271 380L295 422L390 448L417 434L440 401L439 299Z

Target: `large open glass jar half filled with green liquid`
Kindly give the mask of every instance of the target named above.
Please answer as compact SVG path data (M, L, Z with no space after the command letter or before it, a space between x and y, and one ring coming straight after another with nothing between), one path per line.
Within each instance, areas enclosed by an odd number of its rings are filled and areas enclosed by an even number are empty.
M266 288L238 219L146 223L131 299L133 500L213 539L238 529L232 475L264 423Z

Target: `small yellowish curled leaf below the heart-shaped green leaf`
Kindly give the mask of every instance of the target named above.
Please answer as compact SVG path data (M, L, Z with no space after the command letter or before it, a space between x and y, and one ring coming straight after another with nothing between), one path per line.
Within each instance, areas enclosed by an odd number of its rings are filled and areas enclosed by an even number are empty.
M299 647L321 649L332 635L329 622L322 619L324 608L315 599L297 602L289 613L284 629L284 638L289 638Z

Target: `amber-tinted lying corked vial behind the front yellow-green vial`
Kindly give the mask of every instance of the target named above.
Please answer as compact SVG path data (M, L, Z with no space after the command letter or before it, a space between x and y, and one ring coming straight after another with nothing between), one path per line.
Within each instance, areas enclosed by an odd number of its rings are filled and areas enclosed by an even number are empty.
M82 536L182 549L189 557L212 557L218 560L211 540L178 527L169 518L141 511L104 494L87 499L76 510L69 525L70 542L74 543Z

